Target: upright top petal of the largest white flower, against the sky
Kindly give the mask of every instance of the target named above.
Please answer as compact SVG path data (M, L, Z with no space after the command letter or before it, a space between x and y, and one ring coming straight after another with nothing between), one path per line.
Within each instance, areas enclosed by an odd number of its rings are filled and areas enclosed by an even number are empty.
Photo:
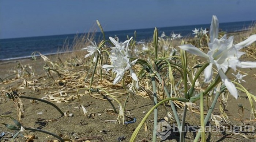
M212 16L211 26L210 26L210 42L212 43L214 39L218 39L219 35L219 20L217 16Z

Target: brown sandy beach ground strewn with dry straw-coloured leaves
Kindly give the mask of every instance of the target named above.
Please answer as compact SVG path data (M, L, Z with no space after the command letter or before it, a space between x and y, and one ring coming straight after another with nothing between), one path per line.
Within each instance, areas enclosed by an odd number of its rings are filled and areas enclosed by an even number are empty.
M239 42L241 35L236 33L235 41ZM231 34L229 34L231 35ZM246 61L255 61L256 59L256 48L250 47L244 50L247 54L243 55L240 59ZM81 54L81 53L80 53ZM86 52L83 51L85 55ZM114 113L110 103L101 94L90 92L88 90L80 90L78 92L79 99L77 96L77 91L83 87L89 87L91 65L89 59L84 59L83 56L75 58L75 53L65 53L61 55L50 55L48 58L50 62L45 62L42 58L38 57L37 60L32 60L32 58L21 59L21 60L8 60L0 62L0 77L1 81L1 96L0 96L0 112L1 115L11 115L17 118L17 110L11 99L5 96L4 90L10 92L12 90L18 92L22 96L30 96L34 98L43 98L50 102L56 104L63 112L66 114L72 114L71 117L61 117L61 114L54 109L54 107L49 104L45 104L38 101L31 101L29 99L21 99L25 108L26 115L22 118L22 125L26 127L33 127L37 129L42 129L49 131L51 133L61 135L63 138L69 138L75 142L82 142L90 139L90 142L114 142L117 141L118 137L126 137L129 141L133 131L139 125L140 121L146 115L143 111L148 112L148 110L153 107L152 101L143 92L138 92L136 98L139 103L135 103L131 98L127 102L125 120L132 121L136 118L135 123L128 125L122 125L115 123L118 114ZM56 70L61 75L59 76L56 72L51 72L52 77L48 77L45 71L45 64L48 67ZM44 68L45 66L45 68ZM252 94L256 94L256 68L253 69L238 69L240 72L246 74L243 78L246 82L241 84ZM17 74L20 76L17 76ZM89 73L89 75L88 75ZM232 71L227 73L227 76L233 78L231 74ZM117 99L123 104L126 98L126 92L123 90L121 83L113 85L113 80L106 79L106 76L111 76L111 74L106 75L103 72L103 77L99 75L99 70L94 76L93 87L101 87L108 91L118 92L115 94ZM88 76L87 76L88 75ZM87 82L84 82L84 78L88 78ZM225 112L230 117L233 122L232 126L255 126L256 120L252 118L250 120L250 106L248 103L248 98L245 93L239 92L240 97L234 99L232 96L228 98L228 105L225 108ZM88 113L86 116L83 114L80 103L86 107ZM116 108L118 103L112 101ZM244 107L242 112L239 105ZM254 103L255 104L255 103ZM255 104L256 105L256 104ZM177 106L179 103L177 102ZM199 103L197 104L199 106ZM170 107L167 109L172 112ZM248 110L247 110L248 109ZM178 113L182 114L182 109L178 108ZM200 126L200 114L197 113L196 107L193 108L195 112L188 112L186 118L187 126ZM163 120L166 116L165 108L160 106L158 109L158 121ZM205 104L205 111L207 111L207 106ZM219 113L219 103L216 105L214 114L221 115ZM179 115L181 118L182 115ZM146 125L139 131L136 137L138 142L150 142L152 141L153 134L153 120L154 115L151 114L146 121ZM10 118L1 118L2 123L11 124ZM214 121L209 120L208 122L211 126L215 126ZM175 123L174 123L175 124ZM221 122L221 125L227 126L225 121ZM13 130L7 129L4 125L0 125L1 133L4 132L6 135L10 136L14 133ZM34 141L36 142L53 142L56 138L39 132L27 131L29 135L35 135ZM242 134L242 135L240 135ZM254 142L256 140L256 132L244 132L234 135L230 132L211 132L206 133L206 138L210 142L219 141L232 141L232 142ZM193 141L196 133L187 132L185 133L186 141ZM244 137L245 136L245 137ZM247 138L246 138L247 137ZM7 137L5 137L7 139ZM11 139L11 138L9 138ZM19 141L26 141L26 138L19 136ZM98 139L98 140L97 140ZM173 132L170 134L170 139L166 140L168 142L176 142L179 140L179 133ZM3 141L1 139L1 141ZM157 141L161 141L157 138Z

